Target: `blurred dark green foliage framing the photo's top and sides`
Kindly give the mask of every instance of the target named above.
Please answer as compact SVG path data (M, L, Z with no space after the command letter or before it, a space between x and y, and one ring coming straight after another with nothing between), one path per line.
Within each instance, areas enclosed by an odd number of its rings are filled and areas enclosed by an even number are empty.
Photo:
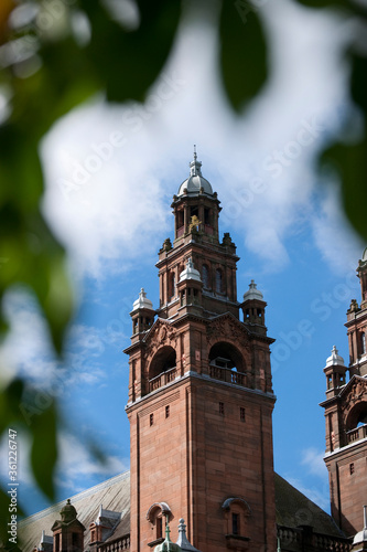
M0 124L0 300L18 284L33 290L61 353L73 300L64 251L40 212L43 174L39 142L61 116L100 91L114 102L143 100L169 59L182 6L180 0L138 0L139 22L131 28L111 15L106 1L60 0L58 11L52 11L55 2L50 0L36 3L39 15L18 29L7 26L15 3L0 3L0 45L6 44L10 52L0 76L0 86L10 97L9 115ZM343 0L300 3L307 8L345 7ZM203 6L211 9L211 2L203 0ZM257 6L249 0L222 1L218 64L236 113L259 94L268 74L267 41ZM346 6L350 13L366 19L363 7L352 1ZM73 31L77 15L88 21L89 38ZM352 97L365 125L366 64L365 55L352 56ZM346 213L365 238L366 146L365 128L359 141L334 145L322 157L338 168ZM7 330L2 310L0 330L2 335ZM9 427L28 433L33 474L50 499L54 498L57 426L53 401L44 408L34 408L24 397L22 380L15 379L0 391L0 434ZM0 491L2 519L8 516L8 503L7 495Z

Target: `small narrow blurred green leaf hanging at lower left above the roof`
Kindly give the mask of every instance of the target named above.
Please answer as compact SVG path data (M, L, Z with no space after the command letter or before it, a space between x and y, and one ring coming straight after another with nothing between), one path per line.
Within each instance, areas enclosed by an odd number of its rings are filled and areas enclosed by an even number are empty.
M31 465L40 489L54 500L53 474L57 459L56 408L52 403L32 420Z

